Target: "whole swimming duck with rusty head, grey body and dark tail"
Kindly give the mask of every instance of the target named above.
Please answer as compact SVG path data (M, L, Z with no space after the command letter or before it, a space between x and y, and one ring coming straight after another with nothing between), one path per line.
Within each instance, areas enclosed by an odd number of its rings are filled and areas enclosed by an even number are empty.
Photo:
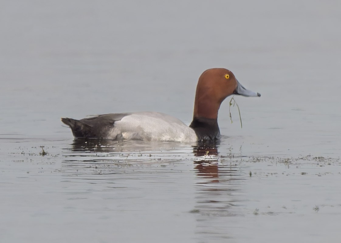
M230 95L261 96L241 85L230 70L211 68L199 77L189 126L176 117L150 111L103 114L80 120L61 118L61 121L71 128L75 139L215 141L220 138L218 111Z

